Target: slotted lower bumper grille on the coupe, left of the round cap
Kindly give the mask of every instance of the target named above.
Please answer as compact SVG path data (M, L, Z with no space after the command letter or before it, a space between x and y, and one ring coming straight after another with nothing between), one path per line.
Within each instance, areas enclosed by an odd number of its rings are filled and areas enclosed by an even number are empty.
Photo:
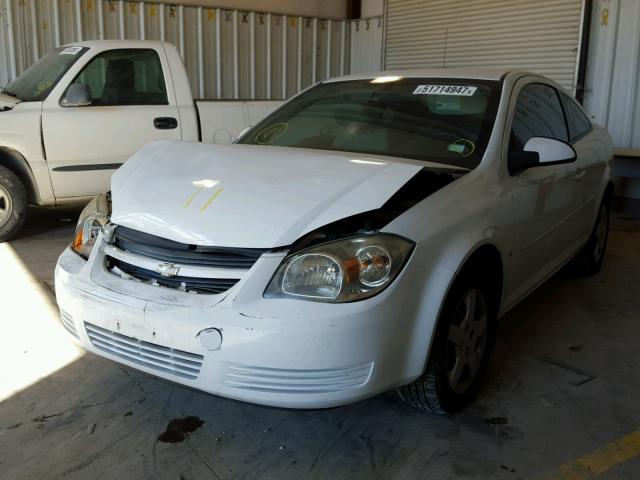
M144 342L87 322L84 327L94 347L115 357L182 378L194 379L200 373L202 355Z

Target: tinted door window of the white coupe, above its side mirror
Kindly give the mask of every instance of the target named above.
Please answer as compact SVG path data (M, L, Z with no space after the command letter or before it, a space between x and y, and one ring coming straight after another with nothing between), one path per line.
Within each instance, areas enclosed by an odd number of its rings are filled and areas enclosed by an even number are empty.
M569 141L558 93L555 88L542 83L526 85L518 94L509 150L522 151L531 137Z

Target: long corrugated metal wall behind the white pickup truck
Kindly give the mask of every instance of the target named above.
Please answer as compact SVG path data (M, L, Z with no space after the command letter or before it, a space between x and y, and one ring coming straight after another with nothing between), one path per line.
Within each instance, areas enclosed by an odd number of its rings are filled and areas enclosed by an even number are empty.
M166 40L196 97L286 98L349 73L348 20L122 0L0 0L0 86L57 45Z

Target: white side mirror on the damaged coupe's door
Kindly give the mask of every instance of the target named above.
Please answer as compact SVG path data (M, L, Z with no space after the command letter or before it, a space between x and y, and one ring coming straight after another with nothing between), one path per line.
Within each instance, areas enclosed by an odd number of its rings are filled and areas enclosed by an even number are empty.
M531 137L521 152L509 153L511 174L529 168L575 162L575 149L567 142L547 137Z

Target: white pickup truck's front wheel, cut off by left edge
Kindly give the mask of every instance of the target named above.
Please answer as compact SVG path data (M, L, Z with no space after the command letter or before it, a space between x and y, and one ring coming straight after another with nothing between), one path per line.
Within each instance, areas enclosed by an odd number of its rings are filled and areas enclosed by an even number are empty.
M27 192L20 179L0 166L0 242L16 234L27 215Z

